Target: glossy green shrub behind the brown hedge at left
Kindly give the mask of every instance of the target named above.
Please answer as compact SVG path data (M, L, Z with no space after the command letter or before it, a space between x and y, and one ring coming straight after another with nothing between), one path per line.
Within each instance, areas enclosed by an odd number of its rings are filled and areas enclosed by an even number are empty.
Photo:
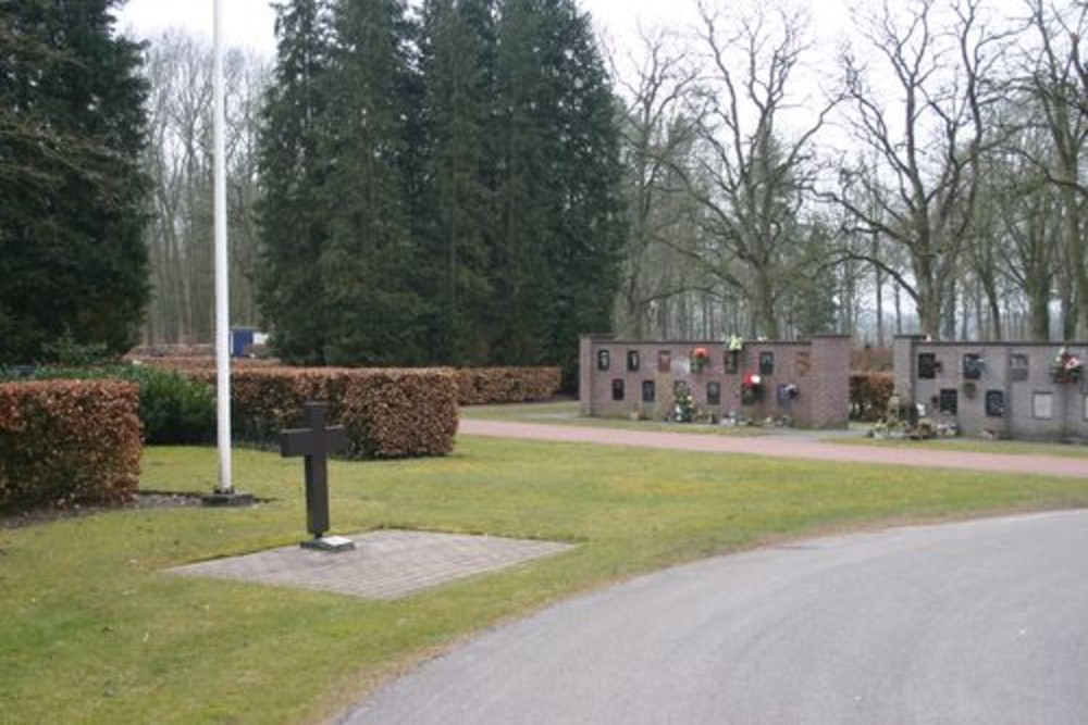
M207 383L149 365L42 367L35 379L114 378L139 386L139 416L148 445L201 443L215 438L215 397Z

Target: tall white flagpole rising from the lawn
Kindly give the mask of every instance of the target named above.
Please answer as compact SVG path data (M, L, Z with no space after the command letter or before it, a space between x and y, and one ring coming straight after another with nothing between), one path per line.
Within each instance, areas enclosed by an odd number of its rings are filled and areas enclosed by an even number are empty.
M223 0L214 0L215 42L215 390L219 441L219 488L234 493L231 482L231 315L226 252L226 141L223 91Z

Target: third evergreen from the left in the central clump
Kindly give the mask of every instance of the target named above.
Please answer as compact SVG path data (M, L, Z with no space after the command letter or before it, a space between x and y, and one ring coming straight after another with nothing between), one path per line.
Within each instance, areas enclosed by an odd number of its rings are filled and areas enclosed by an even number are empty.
M428 0L422 16L429 360L485 364L497 222L494 0Z

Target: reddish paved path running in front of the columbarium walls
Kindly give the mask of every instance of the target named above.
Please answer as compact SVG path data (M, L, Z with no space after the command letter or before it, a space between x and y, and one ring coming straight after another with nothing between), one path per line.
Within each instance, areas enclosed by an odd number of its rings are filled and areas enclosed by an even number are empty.
M670 448L709 453L747 453L771 458L813 461L853 461L883 465L911 465L928 468L964 468L994 473L1027 473L1050 476L1088 477L1088 458L1055 455L1011 455L937 451L931 448L885 448L849 446L775 436L715 436L687 433L648 433L625 428L592 428L566 425L503 423L461 418L459 433L468 436L495 436L564 442L601 443Z

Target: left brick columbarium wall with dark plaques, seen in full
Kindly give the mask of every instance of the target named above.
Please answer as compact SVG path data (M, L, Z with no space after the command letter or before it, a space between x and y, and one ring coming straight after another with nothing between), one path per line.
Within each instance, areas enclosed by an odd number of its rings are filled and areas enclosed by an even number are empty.
M709 352L703 370L693 370L696 348ZM721 341L631 341L583 335L580 411L596 417L665 420L676 405L677 384L687 384L696 409L716 418L788 416L800 427L844 428L850 350L850 338L839 335L795 342L750 341L735 355ZM744 404L741 384L749 374L762 377L764 393L762 400ZM787 396L786 386L796 386L796 396Z

